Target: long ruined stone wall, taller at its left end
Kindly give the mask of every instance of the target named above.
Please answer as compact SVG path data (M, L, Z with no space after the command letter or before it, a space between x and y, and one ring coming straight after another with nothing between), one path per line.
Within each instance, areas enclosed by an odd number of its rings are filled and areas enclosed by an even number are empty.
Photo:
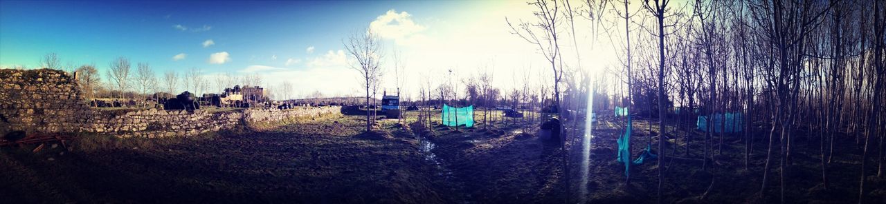
M294 110L103 110L83 102L74 77L56 70L0 70L0 135L96 132L120 137L173 137L256 122L338 114L339 107Z

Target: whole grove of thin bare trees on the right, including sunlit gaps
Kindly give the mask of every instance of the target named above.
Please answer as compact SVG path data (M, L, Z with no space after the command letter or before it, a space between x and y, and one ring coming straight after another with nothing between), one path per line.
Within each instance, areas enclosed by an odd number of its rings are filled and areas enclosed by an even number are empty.
M563 101L561 94L582 87L571 84L580 81L571 76L580 75L575 73L581 69L570 67L581 67L579 53L593 50L594 45L581 45L574 39L579 35L575 28L584 26L591 27L592 38L608 35L618 53L620 69L610 69L606 74L621 80L599 87L611 87L615 93L606 96L618 99L610 101L628 107L632 114L647 110L650 118L657 118L660 135L669 132L664 119L672 114L672 107L684 110L671 117L677 120L676 128L683 130L693 129L695 116L708 116L708 124L715 124L711 121L713 114L740 113L746 123L742 133L733 134L742 136L742 152L726 152L723 140L727 133L712 131L713 125L703 136L701 168L713 176L702 197L711 192L719 175L718 163L722 161L718 160L722 157L716 155L741 154L744 168L750 170L755 140L763 140L766 148L761 195L770 192L771 172L777 168L779 196L784 200L785 183L790 182L785 180L786 174L791 172L791 161L798 154L797 138L801 137L818 141L820 182L825 188L828 176L833 175L828 166L835 165L835 158L849 159L838 152L846 148L835 147L846 137L855 140L860 152L844 154L861 155L859 202L865 195L866 173L871 172L867 169L869 162L876 162L875 172L882 177L882 130L886 125L886 113L882 111L882 94L886 94L883 1L650 0L639 6L618 0L582 3L531 1L528 4L536 19L507 23L512 34L537 46L540 56L548 61L548 72L554 74L548 84L553 85L552 95L561 107L571 108L568 103L573 102ZM587 23L577 24L573 20L576 16L586 17L588 20L582 22ZM564 60L563 44L570 40L577 61ZM599 82L592 84L597 87ZM768 136L754 134L764 129ZM680 149L684 149L685 156L690 156L688 144L695 142L691 136L682 136L686 142ZM657 140L657 152L662 155L658 162L665 161L668 147L671 155L677 154L678 144L669 145L664 139L659 136ZM650 145L652 142L649 140ZM871 154L871 149L877 152ZM657 172L661 198L666 175L662 169Z

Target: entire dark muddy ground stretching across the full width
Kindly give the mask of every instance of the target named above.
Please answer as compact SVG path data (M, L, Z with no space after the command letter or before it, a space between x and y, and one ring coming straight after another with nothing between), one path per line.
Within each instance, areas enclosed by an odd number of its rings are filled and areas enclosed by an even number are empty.
M0 198L44 203L657 202L657 161L634 165L629 183L624 164L615 161L616 139L625 125L621 119L601 118L588 157L581 138L572 137L567 143L569 168L564 170L559 145L536 136L539 121L497 117L484 125L478 111L475 127L456 130L434 122L424 129L415 112L407 116L405 125L379 120L377 131L369 133L362 133L365 117L338 116L191 138L82 135L71 151L47 147L34 154L33 147L4 147ZM649 138L648 126L642 118L634 121L634 156L647 141L657 140ZM567 123L566 131L581 135L575 132L584 128ZM702 170L703 137L691 133L689 155L684 137L672 140L673 132L668 133L667 145L677 147L675 153L668 148L668 154L678 156L664 162L664 203L780 202L777 168L770 171L768 191L762 197L758 193L767 132L754 132L748 170L741 135L726 135L716 165L708 161ZM838 140L825 190L818 140L802 138L786 171L785 202L857 202L860 151L854 140ZM719 142L719 136L715 139ZM875 177L876 162L869 159L874 164L867 175L874 177L868 178L865 201L883 203L886 181ZM582 163L587 163L587 178ZM711 193L701 198L709 186Z

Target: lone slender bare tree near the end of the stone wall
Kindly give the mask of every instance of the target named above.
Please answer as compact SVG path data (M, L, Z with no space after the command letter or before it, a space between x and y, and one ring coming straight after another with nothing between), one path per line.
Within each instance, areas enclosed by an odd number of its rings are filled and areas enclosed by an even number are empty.
M366 89L366 107L369 108L369 88L381 72L379 67L381 58L381 39L373 33L372 29L366 32L357 32L348 37L345 49L352 57L351 68L360 72L361 79ZM366 132L372 131L369 121L369 111L366 112Z

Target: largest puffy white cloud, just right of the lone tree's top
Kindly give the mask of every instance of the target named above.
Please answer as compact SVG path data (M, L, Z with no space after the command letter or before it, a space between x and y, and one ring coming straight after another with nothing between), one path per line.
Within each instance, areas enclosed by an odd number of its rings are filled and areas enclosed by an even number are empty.
M369 23L369 29L387 39L403 39L409 35L424 31L425 27L412 21L412 15L406 11L398 13L394 10L387 11Z

